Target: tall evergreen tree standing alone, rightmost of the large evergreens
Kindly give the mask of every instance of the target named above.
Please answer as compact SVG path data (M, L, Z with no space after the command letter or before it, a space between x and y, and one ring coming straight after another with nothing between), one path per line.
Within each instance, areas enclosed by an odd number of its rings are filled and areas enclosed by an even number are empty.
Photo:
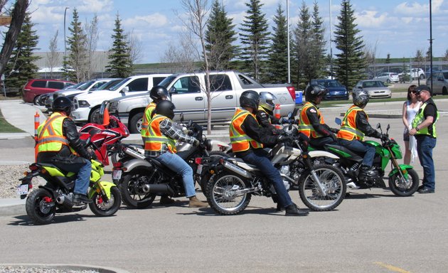
M338 80L347 87L348 90L356 85L358 80L366 77L366 60L363 58L363 36L358 36L361 31L354 23L354 11L350 0L343 0L341 3L341 14L338 16L335 39L336 48L340 53L336 54L336 74Z

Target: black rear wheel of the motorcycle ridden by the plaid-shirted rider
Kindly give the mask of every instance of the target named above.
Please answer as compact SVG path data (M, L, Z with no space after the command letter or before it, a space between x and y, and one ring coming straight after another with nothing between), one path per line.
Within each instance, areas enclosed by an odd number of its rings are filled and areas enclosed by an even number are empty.
M119 185L123 203L132 208L148 208L154 202L156 194L145 193L143 186L145 184L155 184L156 182L155 173L147 170L137 169L127 173Z

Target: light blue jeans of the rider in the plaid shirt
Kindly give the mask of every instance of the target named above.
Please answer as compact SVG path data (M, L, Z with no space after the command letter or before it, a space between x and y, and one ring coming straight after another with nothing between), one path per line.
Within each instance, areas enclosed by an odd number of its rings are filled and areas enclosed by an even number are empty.
M181 156L166 152L157 156L157 160L172 171L181 174L186 197L196 196L193 181L193 169L181 158Z

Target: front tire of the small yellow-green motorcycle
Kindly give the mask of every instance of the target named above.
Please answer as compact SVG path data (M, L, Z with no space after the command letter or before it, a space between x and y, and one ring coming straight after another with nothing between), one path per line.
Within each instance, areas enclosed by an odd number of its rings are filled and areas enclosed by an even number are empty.
M93 202L89 204L90 210L97 216L110 216L117 213L119 206L122 205L122 196L117 187L110 188L110 198L106 202L101 193L95 192L92 197Z

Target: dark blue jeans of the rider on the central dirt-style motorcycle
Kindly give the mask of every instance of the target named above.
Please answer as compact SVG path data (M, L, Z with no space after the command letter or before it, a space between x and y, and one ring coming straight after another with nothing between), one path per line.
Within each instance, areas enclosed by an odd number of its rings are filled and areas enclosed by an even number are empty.
M270 159L266 157L266 152L263 149L254 149L249 154L242 156L242 160L248 164L257 166L257 168L270 179L277 192L280 205L284 208L288 205L292 205L291 197L289 197L288 191L284 188L282 176L280 176L277 168L272 165Z

